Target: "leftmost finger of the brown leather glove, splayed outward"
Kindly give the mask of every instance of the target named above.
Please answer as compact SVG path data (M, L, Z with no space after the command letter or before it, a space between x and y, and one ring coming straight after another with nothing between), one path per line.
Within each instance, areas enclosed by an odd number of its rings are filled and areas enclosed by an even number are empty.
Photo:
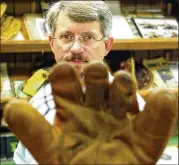
M36 109L15 99L5 105L3 117L40 164L59 164L56 150L61 133L53 129Z

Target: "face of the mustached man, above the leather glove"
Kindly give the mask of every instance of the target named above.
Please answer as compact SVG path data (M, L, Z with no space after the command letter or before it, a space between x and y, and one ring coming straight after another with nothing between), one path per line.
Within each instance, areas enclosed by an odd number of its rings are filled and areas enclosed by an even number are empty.
M94 36L100 41L95 41L90 45L86 45L80 41L80 37ZM74 36L75 40L70 46L59 44L60 38ZM55 39L53 38L55 37ZM83 67L90 61L102 61L104 56L110 51L113 39L106 41L102 39L104 36L101 32L101 25L98 21L77 23L68 18L65 12L60 12L56 31L50 36L50 46L54 53L56 62L68 61L75 65L75 68L82 74ZM102 40L101 40L102 39Z

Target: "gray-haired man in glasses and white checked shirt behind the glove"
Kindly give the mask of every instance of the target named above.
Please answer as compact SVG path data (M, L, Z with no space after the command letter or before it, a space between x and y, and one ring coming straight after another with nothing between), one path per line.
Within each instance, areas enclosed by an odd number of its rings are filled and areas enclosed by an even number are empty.
M72 63L81 77L87 63L103 61L111 49L112 14L102 1L59 1L50 6L46 21L55 60ZM51 124L55 114L52 99L47 84L30 101ZM21 143L15 150L14 161L17 164L36 163Z

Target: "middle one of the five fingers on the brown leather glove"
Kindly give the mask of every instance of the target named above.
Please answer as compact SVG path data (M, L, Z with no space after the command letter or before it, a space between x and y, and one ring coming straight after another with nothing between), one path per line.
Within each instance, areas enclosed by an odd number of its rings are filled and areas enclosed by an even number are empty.
M95 110L105 109L108 97L108 68L94 62L84 68L85 105Z

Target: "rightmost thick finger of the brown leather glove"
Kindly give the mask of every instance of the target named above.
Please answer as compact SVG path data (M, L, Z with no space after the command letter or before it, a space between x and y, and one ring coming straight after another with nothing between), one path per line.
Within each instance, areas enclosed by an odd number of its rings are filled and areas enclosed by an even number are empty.
M159 159L171 136L177 113L174 94L166 89L158 89L150 94L144 111L135 118L136 144L155 161Z

